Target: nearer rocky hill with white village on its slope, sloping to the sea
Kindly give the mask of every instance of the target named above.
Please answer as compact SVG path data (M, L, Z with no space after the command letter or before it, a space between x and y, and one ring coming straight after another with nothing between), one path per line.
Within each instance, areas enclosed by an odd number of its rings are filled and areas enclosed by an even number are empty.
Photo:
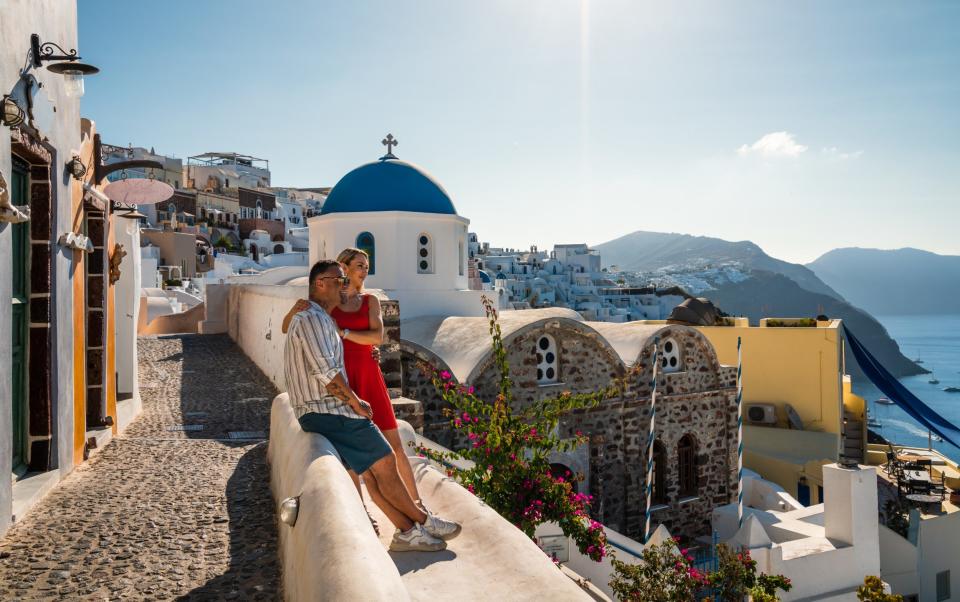
M925 372L901 352L886 329L866 311L851 305L805 266L770 257L752 242L634 232L594 245L604 266L632 273L631 284L680 286L711 299L731 315L840 318L897 376ZM847 369L861 376L852 357Z

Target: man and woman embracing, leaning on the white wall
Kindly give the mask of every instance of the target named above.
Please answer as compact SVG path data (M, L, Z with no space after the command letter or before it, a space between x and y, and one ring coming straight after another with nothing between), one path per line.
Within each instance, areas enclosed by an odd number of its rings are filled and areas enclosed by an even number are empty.
M345 249L310 269L309 300L283 320L284 371L290 403L304 431L325 436L356 484L396 526L391 551L438 551L460 525L420 500L403 450L376 345L383 342L380 301L364 292L370 258ZM368 512L369 516L369 512ZM374 530L376 521L370 518Z

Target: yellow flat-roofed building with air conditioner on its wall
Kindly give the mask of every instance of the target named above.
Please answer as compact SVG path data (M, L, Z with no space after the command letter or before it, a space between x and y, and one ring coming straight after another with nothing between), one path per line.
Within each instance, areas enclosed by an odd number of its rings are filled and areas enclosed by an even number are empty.
M823 501L821 467L836 462L841 447L864 459L865 403L844 374L840 320L768 318L750 326L698 326L722 364L737 364L742 341L744 466L786 489L805 504ZM773 406L774 422L748 419L752 404ZM791 428L792 408L802 430ZM753 422L751 424L751 422Z

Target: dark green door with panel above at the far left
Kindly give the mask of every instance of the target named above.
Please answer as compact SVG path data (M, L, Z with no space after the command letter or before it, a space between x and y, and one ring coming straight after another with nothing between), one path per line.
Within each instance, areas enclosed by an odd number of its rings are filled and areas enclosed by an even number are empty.
M10 200L27 204L27 165L13 158ZM30 325L30 223L11 224L13 262L13 471L21 473L27 461L27 332Z

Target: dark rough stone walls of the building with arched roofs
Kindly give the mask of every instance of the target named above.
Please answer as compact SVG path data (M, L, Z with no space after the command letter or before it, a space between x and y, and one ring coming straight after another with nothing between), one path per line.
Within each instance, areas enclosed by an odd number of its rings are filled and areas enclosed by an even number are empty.
M557 344L559 382L538 385L534 347L542 334ZM667 450L667 503L656 506L653 521L672 534L710 533L710 513L736 497L736 368L720 366L713 347L696 330L669 326L660 332L681 350L681 366L659 372L655 433ZM489 341L477 341L488 345ZM618 384L621 393L599 406L578 411L560 424L561 434L581 431L589 437L589 480L581 490L595 498L594 517L633 538L642 538L646 505L646 443L650 429L653 342L626 367L602 336L547 321L505 341L517 404L529 404L564 391L589 393ZM442 398L418 367L426 361L444 369L436 357L401 343L403 394L423 406L424 435L456 448L460 442L443 416ZM482 399L493 399L499 374L490 358L474 371L472 382ZM696 441L696 495L681 497L677 444L690 434ZM585 487L584 487L585 486ZM654 525L655 526L655 525Z

